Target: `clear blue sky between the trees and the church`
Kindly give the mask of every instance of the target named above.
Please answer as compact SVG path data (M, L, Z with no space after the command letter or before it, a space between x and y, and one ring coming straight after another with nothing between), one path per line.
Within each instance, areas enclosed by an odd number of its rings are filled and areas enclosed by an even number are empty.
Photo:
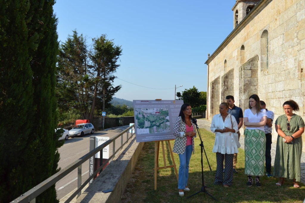
M125 100L173 100L195 86L206 91L207 54L233 30L235 0L58 0L59 41L74 29L91 38L107 34L122 46L114 85ZM179 87L183 85L182 87ZM179 88L178 88L179 87Z

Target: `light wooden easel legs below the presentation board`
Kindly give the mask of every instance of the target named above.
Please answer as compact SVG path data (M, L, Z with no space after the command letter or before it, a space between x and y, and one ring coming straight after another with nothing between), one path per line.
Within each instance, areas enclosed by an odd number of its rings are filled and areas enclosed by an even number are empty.
M172 158L173 161L173 165L166 165L166 158L165 158L165 151L164 151L164 141L167 141L168 144L168 148L170 151L170 156ZM164 162L164 166L163 167L158 167L158 160L159 160L159 149L160 149L160 142L162 144L162 154L163 154L163 162ZM176 173L176 178L178 181L178 172L177 172L177 168L176 168L176 164L175 164L175 160L174 160L174 155L173 155L173 150L170 147L170 140L162 140L162 141L155 141L155 190L157 189L157 172L159 169L167 169L167 168L174 168L175 169L175 173Z

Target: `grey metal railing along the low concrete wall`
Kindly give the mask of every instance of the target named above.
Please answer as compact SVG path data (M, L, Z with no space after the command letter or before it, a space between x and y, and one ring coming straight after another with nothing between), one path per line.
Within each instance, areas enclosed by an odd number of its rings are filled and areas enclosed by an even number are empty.
M84 156L79 158L78 160L74 161L72 164L68 165L64 169L61 169L59 172L55 173L53 176L49 177L45 181L39 183L38 185L36 185L32 189L28 190L26 193L22 194L20 197L11 201L11 203L16 203L16 202L18 202L18 203L20 203L20 202L21 203L27 203L27 202L35 203L36 202L36 197L38 195L43 193L45 190L47 190L52 185L55 185L56 182L58 182L60 179L62 179L66 175L68 175L70 172L72 172L76 168L77 168L77 190L65 201L65 203L70 202L76 195L77 195L77 197L79 197L81 195L81 190L87 185L87 183L89 183L89 181L92 178L94 178L94 176L97 175L97 173L99 173L102 170L102 168L107 164L107 162L109 160L111 160L122 147L124 147L124 145L128 142L128 140L130 140L132 138L132 136L135 134L134 132L132 132L132 129L134 127L135 127L135 124L127 127L124 131L118 133L115 137L113 137L113 139L107 140L105 143L103 143L99 147L97 147L94 150L88 152L87 154L85 154ZM127 139L123 143L123 135L124 135L125 132L127 133ZM130 132L131 132L131 136L129 137ZM115 150L115 143L116 143L115 140L118 137L121 137L121 139L120 139L121 140L121 146L117 150ZM81 164L84 163L85 161L87 161L88 159L90 159L96 153L100 153L100 159L101 159L102 158L102 153L103 153L103 148L105 148L110 143L113 143L113 152L114 153L104 162L104 164L102 164L98 169L96 169L96 171L91 176L89 176L88 179L86 179L86 181L84 181L83 184L81 184L81 174L82 174L81 173ZM100 160L100 162L101 161L102 160Z

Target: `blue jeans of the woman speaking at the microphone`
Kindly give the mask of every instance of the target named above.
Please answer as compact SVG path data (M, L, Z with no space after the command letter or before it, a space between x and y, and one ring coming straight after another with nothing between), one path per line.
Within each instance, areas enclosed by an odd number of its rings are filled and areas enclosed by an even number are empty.
M183 154L179 155L180 166L178 173L178 189L183 190L188 185L188 165L190 163L193 147L188 145L185 147Z

